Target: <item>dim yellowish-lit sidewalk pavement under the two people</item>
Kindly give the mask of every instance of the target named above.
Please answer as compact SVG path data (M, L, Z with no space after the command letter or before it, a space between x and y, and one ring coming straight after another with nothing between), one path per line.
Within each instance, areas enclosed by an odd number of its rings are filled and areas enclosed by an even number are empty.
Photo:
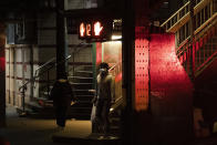
M91 121L68 120L65 130L60 131L54 120L18 117L16 113L9 113L7 125L0 128L0 139L8 142L6 145L121 145L118 137L102 138L99 134L91 134ZM217 145L217 135L188 145Z

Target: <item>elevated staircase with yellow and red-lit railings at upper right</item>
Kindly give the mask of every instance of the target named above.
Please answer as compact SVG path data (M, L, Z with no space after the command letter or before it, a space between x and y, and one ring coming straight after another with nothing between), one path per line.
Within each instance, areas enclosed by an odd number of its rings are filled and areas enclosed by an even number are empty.
M194 37L190 37L189 1L161 25L175 33L176 54L192 77L197 77L216 59L216 0L196 0Z

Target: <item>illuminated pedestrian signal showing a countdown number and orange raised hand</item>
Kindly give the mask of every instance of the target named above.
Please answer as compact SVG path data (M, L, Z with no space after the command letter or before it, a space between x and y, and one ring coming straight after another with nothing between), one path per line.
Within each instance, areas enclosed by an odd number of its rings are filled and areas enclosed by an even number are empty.
M79 38L91 41L104 41L111 38L112 23L108 21L82 21L79 24Z

